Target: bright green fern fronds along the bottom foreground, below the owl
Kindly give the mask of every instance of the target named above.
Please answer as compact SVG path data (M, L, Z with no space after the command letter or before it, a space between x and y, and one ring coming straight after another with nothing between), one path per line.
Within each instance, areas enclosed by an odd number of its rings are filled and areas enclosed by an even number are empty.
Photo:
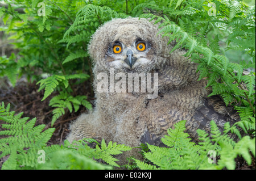
M0 120L7 123L2 124L5 130L0 135L8 136L0 140L0 158L9 155L2 169L113 169L111 166L119 167L116 163L118 159L113 155L131 150L129 146L112 141L107 145L102 140L99 144L91 138L73 141L72 144L65 140L63 145L47 146L55 129L48 128L42 132L45 125L35 127L36 119L27 121L28 117L21 116L22 113L14 115L10 112L10 104L6 108L3 103L0 106ZM210 136L203 130L197 130L201 141L198 144L184 132L185 123L180 121L175 124L175 129L168 129L168 135L162 138L167 148L147 144L150 151L144 148L143 155L154 165L134 159L139 169L235 169L234 159L237 156L245 158L249 165L252 159L250 153L255 158L255 137L244 136L235 142L229 136L230 131L241 136L237 129L241 122L232 127L226 123L221 133L211 121ZM247 127L250 129L251 125ZM90 148L88 143L95 143L96 148ZM219 158L217 163L216 157ZM108 165L97 163L95 159Z

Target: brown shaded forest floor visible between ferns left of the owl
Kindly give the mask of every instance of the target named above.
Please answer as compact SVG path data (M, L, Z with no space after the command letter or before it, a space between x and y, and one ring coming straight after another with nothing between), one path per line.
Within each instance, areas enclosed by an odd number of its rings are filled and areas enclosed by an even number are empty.
M75 94L86 95L88 101L93 103L94 98L90 95L89 82L85 82L82 87L77 86L72 88L75 90ZM11 86L7 79L0 78L0 103L2 104L2 102L4 102L5 107L10 103L10 111L15 111L16 114L23 112L22 117L30 117L29 120L36 117L35 126L45 124L45 130L51 128L52 111L55 109L49 106L49 100L57 95L57 93L53 92L46 100L41 101L43 99L44 91L42 90L38 92L38 89L39 85L36 85L36 82L29 83L24 78L19 79L15 87ZM73 111L70 113L66 110L65 115L61 116L57 119L55 124L53 124L55 132L48 141L48 145L63 144L69 133L69 124L84 112L86 113L88 110L83 106L80 106L80 109L77 112ZM3 129L1 124L3 124L3 121L0 120L0 131ZM3 136L0 136L0 139L1 138L3 138ZM0 158L0 169L5 159L7 158Z

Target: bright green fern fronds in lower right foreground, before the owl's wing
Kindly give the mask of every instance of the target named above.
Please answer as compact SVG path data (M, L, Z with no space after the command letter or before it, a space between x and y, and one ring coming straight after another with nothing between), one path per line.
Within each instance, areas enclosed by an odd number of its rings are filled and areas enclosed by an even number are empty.
M229 137L228 132L236 129L236 125L225 125L222 134L216 123L211 121L210 136L198 129L201 142L195 144L184 132L185 122L180 121L175 124L175 129L168 129L168 135L162 138L167 148L147 144L150 152L145 152L144 156L154 165L135 159L140 169L235 169L234 159L238 155L245 158L249 165L252 161L250 153L255 158L255 137L245 136L237 143Z

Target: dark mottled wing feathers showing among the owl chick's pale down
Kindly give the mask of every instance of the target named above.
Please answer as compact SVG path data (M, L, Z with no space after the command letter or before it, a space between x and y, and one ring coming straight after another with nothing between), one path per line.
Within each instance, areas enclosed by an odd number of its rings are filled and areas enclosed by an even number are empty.
M224 124L229 122L233 125L240 120L238 113L232 107L226 107L220 96L210 96L204 99L204 105L201 106L192 115L190 120L187 120L185 132L189 133L193 141L198 141L197 129L203 129L206 132L210 132L210 121L214 120L218 128L222 132L224 130ZM168 122L168 120L164 120ZM166 133L167 134L167 133ZM144 132L141 137L141 142L146 142L151 145L165 146L161 138L163 134L154 134L149 131Z

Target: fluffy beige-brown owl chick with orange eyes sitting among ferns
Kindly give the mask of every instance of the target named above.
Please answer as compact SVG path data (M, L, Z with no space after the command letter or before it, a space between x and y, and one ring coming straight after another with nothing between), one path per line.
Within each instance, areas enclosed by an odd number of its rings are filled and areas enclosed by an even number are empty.
M233 124L237 120L237 114L226 108L221 99L207 97L207 80L197 81L197 65L182 56L185 50L170 53L175 42L168 44L167 37L158 32L158 24L143 18L113 19L98 28L88 47L93 60L95 108L71 124L69 142L104 138L106 142L131 147L146 142L160 146L160 138L180 120L187 120L187 132L194 140L196 129L209 131L210 120L220 128L226 121ZM147 91L135 91L135 77L128 80L131 74L141 75L142 90L142 79L148 73L152 78L147 78L147 83L158 88L158 96L152 99ZM121 79L126 83L118 84ZM104 84L99 86L102 81ZM128 90L129 83L133 84L132 91ZM105 91L100 89L102 86ZM117 91L120 86L121 92Z

